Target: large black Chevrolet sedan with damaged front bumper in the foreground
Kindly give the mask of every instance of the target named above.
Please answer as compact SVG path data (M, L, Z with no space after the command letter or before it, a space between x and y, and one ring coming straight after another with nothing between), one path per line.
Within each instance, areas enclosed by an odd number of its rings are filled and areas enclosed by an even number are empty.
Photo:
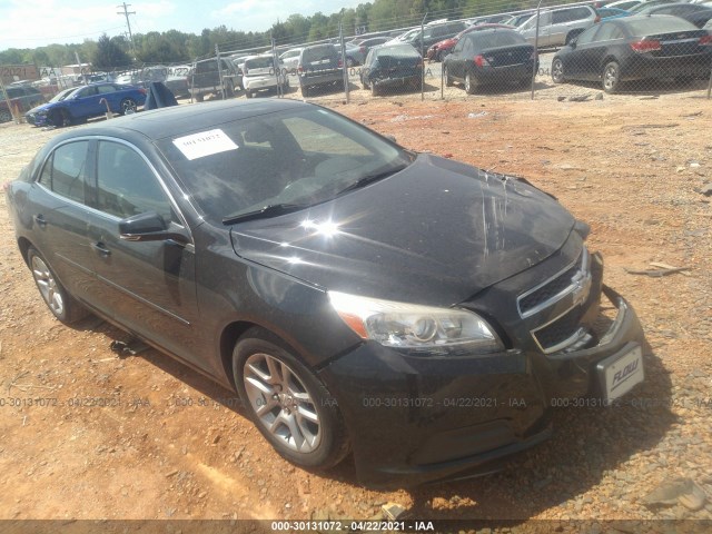
M75 129L7 196L59 320L96 314L236 390L304 467L353 452L379 486L488 472L545 439L561 399L616 403L643 380L641 326L584 222L322 107Z

